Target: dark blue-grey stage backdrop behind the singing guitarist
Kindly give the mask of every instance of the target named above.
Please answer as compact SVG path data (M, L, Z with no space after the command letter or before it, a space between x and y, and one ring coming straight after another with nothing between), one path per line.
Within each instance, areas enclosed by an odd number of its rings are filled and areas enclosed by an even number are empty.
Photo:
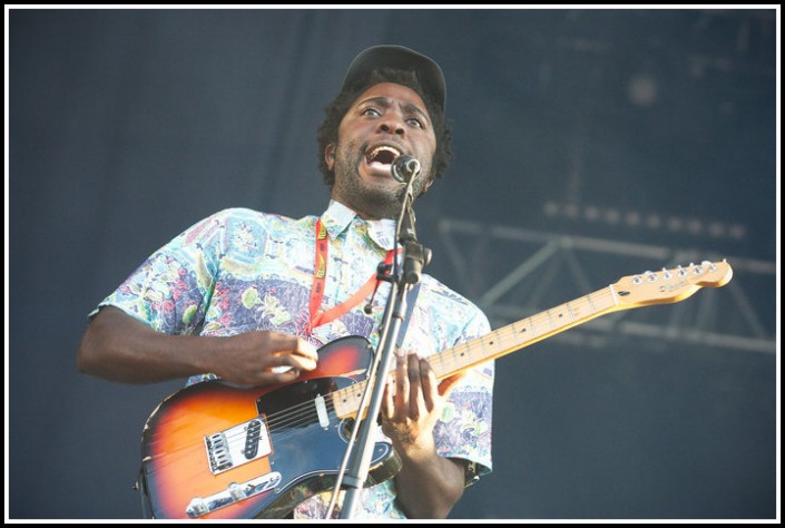
M646 270L735 272L498 360L494 471L451 517L778 517L778 14L7 11L7 517L140 516L141 427L181 381L79 374L87 314L218 209L321 213L323 108L391 42L448 80L428 271L495 327Z

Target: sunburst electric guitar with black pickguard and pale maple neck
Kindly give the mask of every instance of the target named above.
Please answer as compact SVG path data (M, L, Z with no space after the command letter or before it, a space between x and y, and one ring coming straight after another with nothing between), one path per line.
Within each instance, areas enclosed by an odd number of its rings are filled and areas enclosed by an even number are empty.
M428 360L442 380L601 315L675 303L732 276L725 261L626 276ZM332 489L347 422L360 414L371 353L365 338L341 338L321 348L317 368L292 383L247 389L207 381L165 399L141 437L141 488L150 514L283 518ZM394 477L400 467L391 444L375 443L366 485Z

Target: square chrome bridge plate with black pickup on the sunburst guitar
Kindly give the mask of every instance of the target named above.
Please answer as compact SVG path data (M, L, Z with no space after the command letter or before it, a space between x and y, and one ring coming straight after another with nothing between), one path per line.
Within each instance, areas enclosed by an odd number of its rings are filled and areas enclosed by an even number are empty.
M263 417L205 437L207 460L213 475L219 475L273 452Z

